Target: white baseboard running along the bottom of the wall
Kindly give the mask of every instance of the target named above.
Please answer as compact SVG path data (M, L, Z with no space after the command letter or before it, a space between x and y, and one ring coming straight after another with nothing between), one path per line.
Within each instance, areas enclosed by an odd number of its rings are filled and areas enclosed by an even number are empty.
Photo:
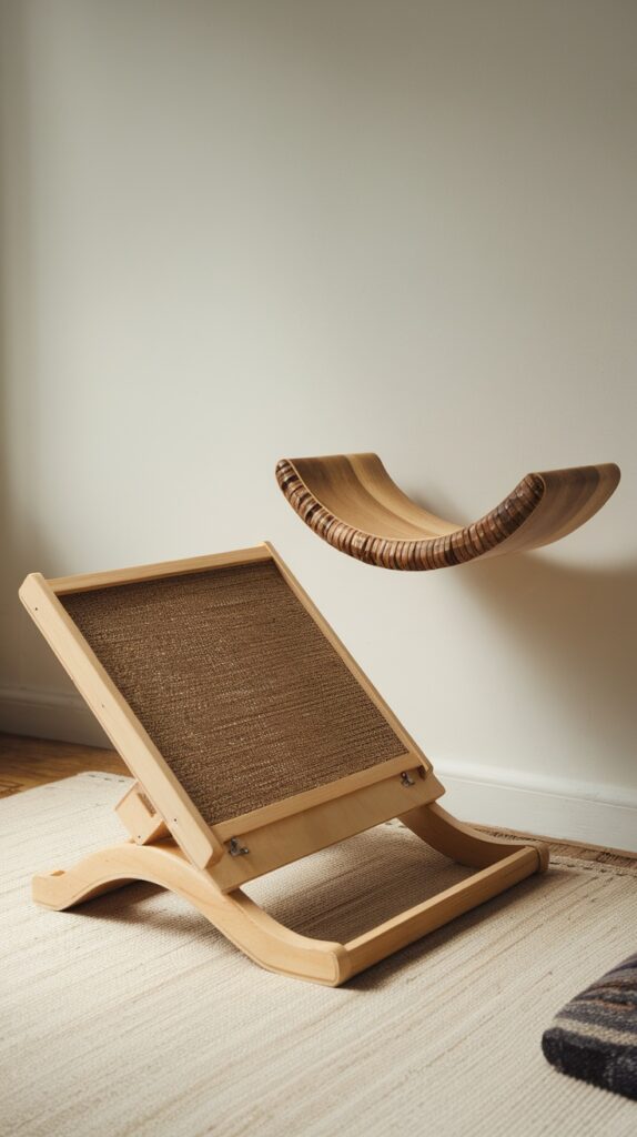
M109 746L76 695L0 688L0 730ZM637 792L628 787L512 773L477 762L435 763L444 806L464 821L637 853Z

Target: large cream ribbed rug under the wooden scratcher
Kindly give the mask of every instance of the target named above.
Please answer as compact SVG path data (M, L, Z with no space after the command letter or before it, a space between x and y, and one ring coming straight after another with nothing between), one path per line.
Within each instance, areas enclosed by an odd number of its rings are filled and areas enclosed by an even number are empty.
M146 885L32 905L33 871L120 839L125 785L0 803L2 1135L635 1137L637 1104L556 1073L539 1041L636 949L637 874L562 861L334 990L260 970ZM336 938L463 873L392 824L250 891Z

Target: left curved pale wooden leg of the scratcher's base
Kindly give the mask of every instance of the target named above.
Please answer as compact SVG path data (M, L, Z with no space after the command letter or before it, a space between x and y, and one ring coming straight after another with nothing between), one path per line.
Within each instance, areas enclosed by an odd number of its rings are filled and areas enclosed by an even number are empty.
M241 889L223 893L171 841L126 843L85 857L73 869L33 878L33 898L60 911L101 893L146 880L190 901L236 947L269 971L336 987L351 973L342 944L299 936L263 912Z

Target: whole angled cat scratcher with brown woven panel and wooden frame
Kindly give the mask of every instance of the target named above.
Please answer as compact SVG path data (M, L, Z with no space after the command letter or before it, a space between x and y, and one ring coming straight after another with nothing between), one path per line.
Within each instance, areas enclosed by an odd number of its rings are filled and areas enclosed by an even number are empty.
M152 881L262 966L335 986L546 868L544 846L441 808L430 763L270 546L33 574L20 598L135 778L117 807L131 839L35 877L39 903ZM288 930L241 890L391 818L478 871L346 944Z

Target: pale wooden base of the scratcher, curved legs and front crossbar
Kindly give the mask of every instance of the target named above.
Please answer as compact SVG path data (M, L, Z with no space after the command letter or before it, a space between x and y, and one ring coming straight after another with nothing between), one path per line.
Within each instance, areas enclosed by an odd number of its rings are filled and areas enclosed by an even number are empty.
M170 839L148 845L126 841L85 857L73 869L36 875L33 898L60 911L145 880L190 901L262 968L336 987L548 864L545 845L486 837L437 804L411 810L401 820L434 848L479 871L346 944L300 936L273 920L240 888L223 891L210 872L191 864Z

